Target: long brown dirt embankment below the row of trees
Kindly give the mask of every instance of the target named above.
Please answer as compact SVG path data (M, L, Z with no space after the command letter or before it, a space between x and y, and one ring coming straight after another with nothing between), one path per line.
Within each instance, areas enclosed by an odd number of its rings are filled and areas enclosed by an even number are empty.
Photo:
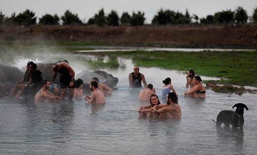
M112 46L257 48L257 25L6 26L0 40L85 41Z

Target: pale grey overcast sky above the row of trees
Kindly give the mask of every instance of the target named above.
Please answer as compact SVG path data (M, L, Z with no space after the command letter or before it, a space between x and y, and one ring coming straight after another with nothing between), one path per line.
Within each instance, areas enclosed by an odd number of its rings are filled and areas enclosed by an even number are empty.
M105 14L115 10L119 16L123 12L143 11L145 23L151 23L152 18L162 9L170 9L185 13L188 9L191 15L205 17L215 12L242 6L248 15L252 16L257 7L257 0L0 0L0 11L6 16L16 15L30 9L39 18L45 14L64 15L65 10L78 14L83 22L94 16L101 8Z

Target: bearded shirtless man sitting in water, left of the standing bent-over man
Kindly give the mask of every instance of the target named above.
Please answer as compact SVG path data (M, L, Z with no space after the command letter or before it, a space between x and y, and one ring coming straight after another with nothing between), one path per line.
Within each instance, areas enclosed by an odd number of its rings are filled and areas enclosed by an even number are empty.
M48 80L44 80L42 82L42 88L36 93L35 96L35 104L46 101L46 100L50 100L50 101L54 101L54 102L59 102L60 101L60 97L48 92L47 90L50 87L50 82ZM58 93L58 89L55 88L55 93Z

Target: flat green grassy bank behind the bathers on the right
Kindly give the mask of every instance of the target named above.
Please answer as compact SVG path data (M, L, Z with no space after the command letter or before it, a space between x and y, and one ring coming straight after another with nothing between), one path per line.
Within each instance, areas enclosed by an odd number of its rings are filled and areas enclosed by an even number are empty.
M186 71L222 78L218 84L257 87L257 51L203 52L106 52L99 55L130 58L139 66ZM205 81L206 82L206 81Z

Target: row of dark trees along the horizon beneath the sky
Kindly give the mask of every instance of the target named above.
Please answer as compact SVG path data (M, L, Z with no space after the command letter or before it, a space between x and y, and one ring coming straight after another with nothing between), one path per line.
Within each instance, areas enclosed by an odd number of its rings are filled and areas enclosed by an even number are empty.
M124 12L121 17L118 16L117 12L111 11L108 15L105 15L104 10L98 11L95 16L88 19L87 23L83 23L77 14L71 13L67 10L63 16L58 17L57 15L46 14L39 18L39 23L42 25L59 25L62 20L63 25L97 25L97 26L118 26L118 25L128 25L131 26L142 26L145 24L145 14L144 12L133 12L130 16L128 12ZM227 23L257 23L257 7L253 11L252 16L248 16L246 10L242 7L236 8L235 11L223 10L221 12L216 12L214 15L208 15L203 18L199 18L197 15L190 15L188 10L185 14L181 12L175 12L172 10L158 11L157 15L152 19L152 25L174 25L174 24L227 24ZM12 14L8 17L0 12L0 24L16 24L16 25L33 25L36 24L35 13L26 10L23 13Z

